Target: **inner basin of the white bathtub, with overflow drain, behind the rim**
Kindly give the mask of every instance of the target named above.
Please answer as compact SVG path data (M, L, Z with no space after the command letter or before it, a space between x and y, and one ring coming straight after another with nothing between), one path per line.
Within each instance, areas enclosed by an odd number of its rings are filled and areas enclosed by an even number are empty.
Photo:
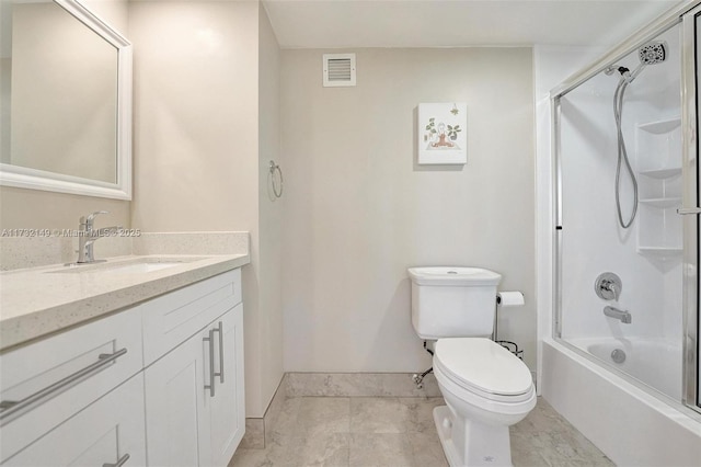
M681 344L660 339L570 339L574 346L674 400L681 400Z

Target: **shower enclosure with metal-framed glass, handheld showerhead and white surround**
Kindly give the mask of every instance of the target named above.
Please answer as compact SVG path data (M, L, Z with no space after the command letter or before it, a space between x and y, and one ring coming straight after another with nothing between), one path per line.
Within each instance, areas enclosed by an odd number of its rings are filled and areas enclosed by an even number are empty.
M554 337L698 412L700 14L660 21L552 94Z

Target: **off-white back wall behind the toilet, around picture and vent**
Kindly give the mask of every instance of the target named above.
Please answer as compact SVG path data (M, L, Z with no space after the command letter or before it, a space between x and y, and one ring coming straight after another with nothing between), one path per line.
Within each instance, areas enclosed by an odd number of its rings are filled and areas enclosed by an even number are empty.
M499 337L535 368L531 49L349 52L355 88L322 88L324 50L283 52L285 369L429 366L406 269L437 264L492 269L525 293ZM417 166L417 104L456 101L468 164Z

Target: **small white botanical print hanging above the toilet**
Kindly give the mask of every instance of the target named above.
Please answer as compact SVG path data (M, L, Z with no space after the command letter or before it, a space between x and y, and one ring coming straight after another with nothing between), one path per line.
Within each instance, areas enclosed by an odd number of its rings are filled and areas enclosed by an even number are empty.
M468 104L418 104L418 163L468 162Z

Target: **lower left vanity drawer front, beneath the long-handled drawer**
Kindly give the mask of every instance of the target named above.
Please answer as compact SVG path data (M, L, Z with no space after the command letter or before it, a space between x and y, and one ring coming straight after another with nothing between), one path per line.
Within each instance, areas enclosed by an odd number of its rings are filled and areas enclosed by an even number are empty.
M9 458L3 466L146 464L143 379L139 374Z

